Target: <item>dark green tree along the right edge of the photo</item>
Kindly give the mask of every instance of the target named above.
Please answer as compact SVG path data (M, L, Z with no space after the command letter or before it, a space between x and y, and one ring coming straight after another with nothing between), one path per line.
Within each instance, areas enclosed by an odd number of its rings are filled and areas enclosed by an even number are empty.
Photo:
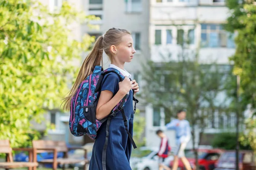
M256 108L256 1L255 0L227 0L230 17L227 18L225 29L236 33L236 52L230 57L234 63L233 74L241 77L239 89L239 110L245 111L247 106L255 112ZM256 113L254 113L256 114ZM256 152L255 117L246 120L248 133L241 138L247 139Z

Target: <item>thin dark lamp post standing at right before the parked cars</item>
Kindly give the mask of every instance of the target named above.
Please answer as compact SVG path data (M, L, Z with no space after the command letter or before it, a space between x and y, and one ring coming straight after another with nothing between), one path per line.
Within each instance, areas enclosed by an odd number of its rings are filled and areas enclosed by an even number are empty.
M240 76L236 76L236 170L239 170L239 88L240 88Z

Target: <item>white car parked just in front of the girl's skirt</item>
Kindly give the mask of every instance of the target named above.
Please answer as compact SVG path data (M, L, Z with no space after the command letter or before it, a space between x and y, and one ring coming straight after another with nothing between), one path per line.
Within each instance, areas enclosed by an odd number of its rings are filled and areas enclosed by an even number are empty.
M158 170L159 157L157 148L141 147L132 151L130 165L132 170ZM164 163L169 166L173 156L165 159Z

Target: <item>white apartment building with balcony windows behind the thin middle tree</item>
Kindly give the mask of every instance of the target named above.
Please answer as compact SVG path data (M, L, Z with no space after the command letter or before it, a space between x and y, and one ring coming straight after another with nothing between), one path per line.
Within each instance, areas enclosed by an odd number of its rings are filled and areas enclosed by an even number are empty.
M221 24L228 17L224 0L150 0L149 44L150 56L154 62L163 62L165 56L177 59L180 44L187 40L189 50L199 49L201 63L217 62L225 71L230 69L228 57L235 52L234 36L223 29ZM225 94L218 97L223 99ZM155 130L165 126L163 109L146 108L145 134L147 146L158 146ZM215 113L206 120L205 133L217 133L222 128L234 128L236 116ZM174 133L168 131L175 139ZM154 140L153 140L154 139ZM198 140L198 139L196 139ZM171 140L171 145L175 145ZM188 147L192 146L192 141Z

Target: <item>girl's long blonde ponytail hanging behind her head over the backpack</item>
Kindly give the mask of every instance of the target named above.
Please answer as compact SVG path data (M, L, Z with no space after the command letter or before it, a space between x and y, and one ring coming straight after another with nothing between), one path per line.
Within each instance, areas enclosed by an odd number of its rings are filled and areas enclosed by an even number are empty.
M76 90L81 84L84 79L86 79L90 74L93 73L93 70L96 65L102 65L103 66L103 37L100 36L97 38L95 45L93 46L92 51L88 56L84 59L84 62L81 66L81 69L79 71L79 74L76 78L76 81L74 85L72 86L71 90L69 91L69 94L67 97L65 97L62 102L64 103L64 110L68 111L70 109L71 99L76 94ZM61 105L62 105L61 104Z

